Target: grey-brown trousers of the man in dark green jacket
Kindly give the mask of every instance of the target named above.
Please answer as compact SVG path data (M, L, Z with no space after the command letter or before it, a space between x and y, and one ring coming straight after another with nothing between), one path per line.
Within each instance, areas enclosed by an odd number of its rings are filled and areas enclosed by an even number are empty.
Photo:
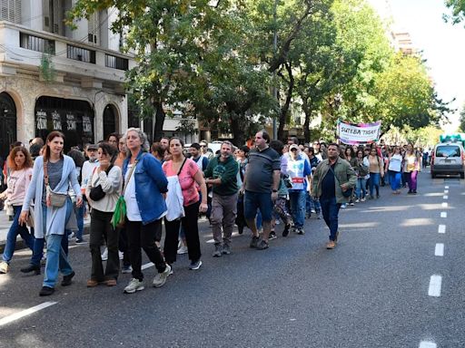
M215 245L222 243L230 244L233 235L234 220L237 213L237 193L232 196L220 196L213 193L212 215L210 221L213 229L213 239Z

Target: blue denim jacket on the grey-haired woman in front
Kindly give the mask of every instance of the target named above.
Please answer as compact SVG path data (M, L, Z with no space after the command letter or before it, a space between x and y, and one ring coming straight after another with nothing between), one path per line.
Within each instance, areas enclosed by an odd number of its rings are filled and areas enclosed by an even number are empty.
M162 193L168 191L168 180L164 175L162 163L151 154L142 150L137 154L137 166L134 170L135 198L141 213L143 225L161 218L166 211L166 203ZM123 163L123 178L131 160L128 156Z

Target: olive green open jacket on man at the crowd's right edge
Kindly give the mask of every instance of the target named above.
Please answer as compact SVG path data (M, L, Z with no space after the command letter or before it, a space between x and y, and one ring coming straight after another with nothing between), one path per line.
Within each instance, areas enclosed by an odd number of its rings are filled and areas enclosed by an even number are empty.
M322 160L313 172L312 196L316 196L317 198L322 196L322 179L324 179L330 170L329 163L329 160ZM353 189L357 182L357 174L347 160L342 160L339 157L334 165L334 174L336 177L334 180L336 185L336 202L347 203L349 198L342 195L341 185L349 183L349 188Z

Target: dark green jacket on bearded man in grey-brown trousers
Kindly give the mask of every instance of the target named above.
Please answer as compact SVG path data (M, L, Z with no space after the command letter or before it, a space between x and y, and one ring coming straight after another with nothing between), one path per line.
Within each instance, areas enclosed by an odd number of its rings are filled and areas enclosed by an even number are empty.
M228 157L225 162L222 162L219 158L219 156L213 157L203 174L207 179L222 179L221 185L213 185L213 193L220 196L233 196L239 190L237 186L239 164L234 160L233 156Z

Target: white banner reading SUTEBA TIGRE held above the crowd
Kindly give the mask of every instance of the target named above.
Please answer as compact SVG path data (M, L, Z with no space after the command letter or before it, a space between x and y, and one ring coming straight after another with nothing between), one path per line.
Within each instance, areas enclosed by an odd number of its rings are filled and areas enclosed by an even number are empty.
M366 145L380 138L381 121L374 123L349 123L338 121L337 133L342 143L348 145Z

